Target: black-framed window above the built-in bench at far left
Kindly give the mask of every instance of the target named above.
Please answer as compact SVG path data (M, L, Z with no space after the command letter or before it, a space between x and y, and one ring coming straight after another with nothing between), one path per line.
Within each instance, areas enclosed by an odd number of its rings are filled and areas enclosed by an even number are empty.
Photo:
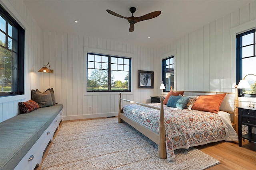
M0 5L0 96L24 94L24 29Z

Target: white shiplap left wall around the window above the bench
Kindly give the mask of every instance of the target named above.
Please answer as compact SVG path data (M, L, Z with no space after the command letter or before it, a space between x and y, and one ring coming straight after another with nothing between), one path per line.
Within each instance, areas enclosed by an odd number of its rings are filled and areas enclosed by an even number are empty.
M22 1L0 0L0 4L12 14L25 29L25 94L0 98L0 122L5 121L20 112L18 102L31 98L31 89L40 84L37 70L40 64L40 27L27 10Z

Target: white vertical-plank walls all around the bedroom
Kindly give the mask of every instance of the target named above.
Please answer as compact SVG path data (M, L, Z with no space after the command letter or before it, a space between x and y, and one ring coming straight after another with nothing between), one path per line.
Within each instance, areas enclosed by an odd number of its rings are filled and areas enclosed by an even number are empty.
M234 92L235 59L231 57L230 28L255 20L255 2L170 42L160 49L41 29L21 0L1 1L26 25L25 95L0 98L0 122L18 114L18 102L30 99L32 89L54 88L64 104L65 119L115 115L118 95L83 95L84 47L134 53L133 95L124 98L149 103L160 94L161 56L176 50L175 90ZM50 62L54 74L39 73ZM137 71L154 71L154 89L137 88ZM91 108L91 110L89 110Z

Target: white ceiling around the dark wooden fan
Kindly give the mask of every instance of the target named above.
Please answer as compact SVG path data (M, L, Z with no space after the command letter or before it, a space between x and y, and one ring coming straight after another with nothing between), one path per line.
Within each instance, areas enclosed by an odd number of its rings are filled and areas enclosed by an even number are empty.
M107 39L144 47L162 47L255 0L25 0L41 28ZM136 23L130 17L160 10L160 16ZM78 23L74 21L77 20ZM150 37L150 39L148 39Z

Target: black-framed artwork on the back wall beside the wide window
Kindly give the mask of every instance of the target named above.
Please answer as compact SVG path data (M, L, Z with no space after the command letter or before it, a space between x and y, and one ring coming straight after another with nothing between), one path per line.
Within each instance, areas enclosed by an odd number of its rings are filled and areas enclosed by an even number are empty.
M138 88L154 88L154 72L138 70Z

